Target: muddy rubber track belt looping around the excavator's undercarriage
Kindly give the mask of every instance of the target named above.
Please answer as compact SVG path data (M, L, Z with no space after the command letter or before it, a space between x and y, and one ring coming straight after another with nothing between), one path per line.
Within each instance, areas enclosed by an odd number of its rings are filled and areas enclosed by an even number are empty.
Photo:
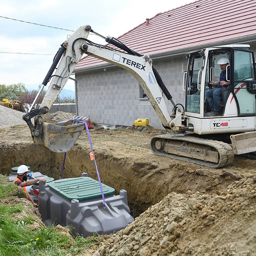
M216 149L219 153L220 160L219 163L213 163L213 162L208 162L204 161L201 159L195 159L195 158L190 158L186 156L179 156L175 154L170 154L167 152L161 152L158 151L155 147L155 141L157 139L165 139L165 140L180 140L180 141L187 141L191 142L194 144L200 144L200 145L207 145L210 146L214 149ZM218 168L222 167L228 164L233 163L234 160L234 151L232 147L222 141L216 141L216 140L208 140L208 139L203 139L203 138L198 138L198 137L193 137L193 136L180 136L180 135L171 135L171 134L165 134L165 135L159 135L159 136L154 136L151 139L151 150L154 154L159 155L159 156L165 156L165 157L170 157L178 160L183 160L189 163L194 163L194 164L199 164L211 168Z

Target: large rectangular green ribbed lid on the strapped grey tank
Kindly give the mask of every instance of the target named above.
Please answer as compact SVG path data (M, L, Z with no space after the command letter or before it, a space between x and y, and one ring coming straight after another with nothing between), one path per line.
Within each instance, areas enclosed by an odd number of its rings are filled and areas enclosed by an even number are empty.
M115 189L101 183L105 196L113 195ZM79 201L101 197L99 182L90 177L78 177L56 180L48 183L48 187L68 200Z

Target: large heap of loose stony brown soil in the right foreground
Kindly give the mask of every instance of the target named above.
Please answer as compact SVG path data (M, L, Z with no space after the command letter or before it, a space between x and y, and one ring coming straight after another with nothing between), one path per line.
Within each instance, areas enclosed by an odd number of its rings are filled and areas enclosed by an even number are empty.
M256 176L215 195L170 193L93 256L256 255Z

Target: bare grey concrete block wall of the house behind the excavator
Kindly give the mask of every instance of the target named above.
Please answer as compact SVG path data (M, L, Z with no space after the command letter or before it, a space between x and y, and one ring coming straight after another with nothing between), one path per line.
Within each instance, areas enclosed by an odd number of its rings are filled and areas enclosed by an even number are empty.
M182 91L183 56L161 61L154 66L173 96L175 103L184 104ZM137 118L149 118L150 125L163 129L149 100L140 98L139 82L120 67L76 73L78 113L90 116L91 121L130 126ZM169 112L172 105L164 97Z

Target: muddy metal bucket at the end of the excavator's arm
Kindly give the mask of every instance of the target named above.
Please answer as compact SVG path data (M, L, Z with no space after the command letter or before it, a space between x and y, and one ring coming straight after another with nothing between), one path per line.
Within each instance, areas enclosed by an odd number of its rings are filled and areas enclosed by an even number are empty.
M57 153L69 151L84 129L84 123L73 124L73 121L57 123L43 122L39 136L34 142Z

